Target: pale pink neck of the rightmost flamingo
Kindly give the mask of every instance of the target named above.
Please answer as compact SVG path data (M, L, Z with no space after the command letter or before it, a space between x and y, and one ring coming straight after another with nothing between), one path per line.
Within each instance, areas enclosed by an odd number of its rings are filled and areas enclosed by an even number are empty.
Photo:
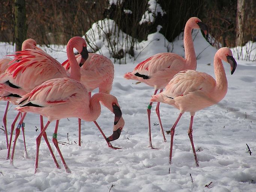
M214 73L216 77L216 89L224 93L227 93L227 77L221 58L218 55L214 57Z

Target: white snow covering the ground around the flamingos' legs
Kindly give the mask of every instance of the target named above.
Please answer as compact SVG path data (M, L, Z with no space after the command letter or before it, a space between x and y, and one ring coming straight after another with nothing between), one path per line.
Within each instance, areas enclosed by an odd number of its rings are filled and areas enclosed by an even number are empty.
M216 49L209 46L197 30L193 31L197 70L214 77L213 58ZM99 40L99 39L98 39ZM0 191L45 191L45 192L254 192L256 189L256 89L255 62L237 60L238 66L230 75L230 66L224 63L228 92L218 103L196 113L193 123L193 139L199 159L196 167L187 130L190 114L185 113L179 121L173 143L172 165L169 165L170 135L163 142L160 127L152 107L152 144L158 150L148 147L147 106L154 88L136 81L125 80L123 75L132 71L137 63L158 52L173 51L184 56L183 40L179 36L169 43L160 33L150 34L141 42L143 51L135 52L137 60L128 60L126 65L115 64L115 78L111 94L116 96L125 127L121 136L112 144L122 149L107 147L101 133L92 122L82 121L82 144L78 142L78 121L76 118L60 120L58 141L60 150L72 173L66 173L57 150L54 154L61 166L57 169L42 139L39 151L38 172L34 174L36 127L39 116L27 114L26 144L28 157L24 158L22 136L16 145L14 165L6 158L5 135L0 130ZM54 51L55 49L61 51ZM45 48L59 62L66 60L65 47ZM108 52L101 47L102 52ZM12 45L0 43L0 55L13 53ZM236 55L234 55L236 56ZM93 93L98 90L93 91ZM0 102L1 119L5 101ZM17 114L11 105L8 112L8 128ZM161 119L167 131L178 117L179 111L170 105L160 105ZM113 114L102 106L97 122L107 136L112 134ZM45 119L46 122L46 119ZM2 123L0 124L2 125ZM40 128L39 128L40 129ZM48 138L54 130L54 122L47 129ZM69 141L67 139L69 133ZM51 141L50 141L51 143ZM250 147L252 155L248 153ZM191 176L190 176L191 174ZM193 182L192 182L193 179ZM212 182L212 183L211 183ZM211 184L210 184L211 183ZM112 186L113 185L113 186ZM206 187L206 185L209 185ZM112 186L112 187L111 187Z

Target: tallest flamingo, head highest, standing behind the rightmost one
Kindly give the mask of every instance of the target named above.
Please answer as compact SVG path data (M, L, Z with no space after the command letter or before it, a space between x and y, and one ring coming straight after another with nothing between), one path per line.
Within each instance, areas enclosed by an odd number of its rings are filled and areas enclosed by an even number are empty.
M148 86L154 87L154 95L157 94L158 90L160 93L163 92L164 87L169 83L175 74L179 71L185 69L196 70L196 53L194 50L193 39L192 39L192 29L202 29L208 38L208 27L202 23L202 21L197 17L191 17L184 29L184 49L185 58L178 54L172 52L164 52L155 54L143 62L139 63L133 70L133 72L128 72L124 75L124 78L128 80L137 80L147 84ZM160 118L159 111L160 103L157 103L156 113L160 123L161 132L163 134L164 142L166 138L164 136L164 130ZM148 124L149 124L149 147L152 147L151 141L151 115L152 102L148 105Z

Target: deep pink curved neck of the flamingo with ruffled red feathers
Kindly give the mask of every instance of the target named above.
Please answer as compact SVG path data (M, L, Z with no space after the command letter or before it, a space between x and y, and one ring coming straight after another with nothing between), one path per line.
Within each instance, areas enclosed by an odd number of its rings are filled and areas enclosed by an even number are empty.
M68 56L68 60L69 60L69 63L70 63L69 78L80 82L80 79L81 79L80 67L79 67L79 65L77 63L77 60L75 58L73 48L74 48L74 46L67 45L67 56Z

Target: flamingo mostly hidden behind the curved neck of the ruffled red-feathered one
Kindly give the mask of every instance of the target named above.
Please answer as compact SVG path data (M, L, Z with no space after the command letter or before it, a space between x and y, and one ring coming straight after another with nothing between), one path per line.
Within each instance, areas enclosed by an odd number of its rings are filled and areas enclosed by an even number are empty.
M80 63L81 55L75 55ZM70 70L69 60L62 63L66 71ZM91 97L92 91L99 88L99 93L110 93L114 80L114 65L104 55L89 53L89 57L81 66L80 82L86 87ZM81 119L78 119L78 145L81 146Z

